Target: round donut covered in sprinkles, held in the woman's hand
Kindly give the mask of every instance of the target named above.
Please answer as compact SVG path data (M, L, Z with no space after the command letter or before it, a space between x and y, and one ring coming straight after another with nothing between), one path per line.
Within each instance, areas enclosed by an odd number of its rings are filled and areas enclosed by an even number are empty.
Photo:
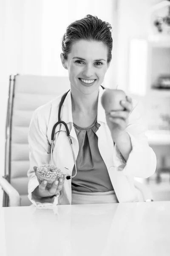
M42 180L47 180L48 184L52 184L54 180L64 177L63 172L51 164L43 164L37 167L36 175L40 183Z

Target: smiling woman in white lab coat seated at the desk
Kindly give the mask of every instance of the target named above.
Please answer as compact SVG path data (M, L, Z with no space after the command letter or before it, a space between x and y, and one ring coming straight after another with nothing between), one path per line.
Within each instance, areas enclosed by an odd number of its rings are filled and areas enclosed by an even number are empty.
M62 38L61 61L71 84L61 120L68 125L74 158L65 127L56 128L53 164L65 174L50 189L38 183L37 166L50 161L51 132L62 95L41 106L32 116L28 143L28 198L37 206L138 201L134 177L147 178L156 169L156 156L147 143L146 128L137 104L126 97L125 111L105 116L100 86L111 62L111 25L87 15L71 23ZM59 131L59 133L57 133ZM33 169L34 168L34 169Z

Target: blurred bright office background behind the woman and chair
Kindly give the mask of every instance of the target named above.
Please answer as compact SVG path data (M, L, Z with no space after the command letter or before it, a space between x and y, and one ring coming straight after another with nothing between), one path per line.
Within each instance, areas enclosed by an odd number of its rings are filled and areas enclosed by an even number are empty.
M170 1L0 0L0 175L9 76L68 76L60 61L67 26L85 15L111 23L113 52L104 86L139 101L148 141L157 156L146 179L156 201L170 200Z

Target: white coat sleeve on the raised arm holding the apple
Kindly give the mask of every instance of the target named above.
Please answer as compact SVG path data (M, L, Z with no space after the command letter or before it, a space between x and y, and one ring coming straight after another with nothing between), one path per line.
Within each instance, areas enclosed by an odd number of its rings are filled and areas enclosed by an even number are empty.
M156 170L156 155L148 144L146 136L147 125L142 120L139 103L133 100L133 110L129 114L127 128L125 130L132 143L132 151L127 162L122 157L117 145L115 145L115 156L118 170L124 175L147 178Z

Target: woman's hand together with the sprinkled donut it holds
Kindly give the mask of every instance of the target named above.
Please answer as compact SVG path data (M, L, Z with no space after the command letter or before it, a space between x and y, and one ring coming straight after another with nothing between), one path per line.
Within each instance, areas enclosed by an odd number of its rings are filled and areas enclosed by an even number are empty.
M63 187L66 175L64 175L58 168L57 172L51 171L50 173L49 167L51 168L50 165L42 165L38 168L37 166L34 166L34 172L37 176L37 180L39 181L39 186L37 186L33 194L37 197L52 197L57 195Z

